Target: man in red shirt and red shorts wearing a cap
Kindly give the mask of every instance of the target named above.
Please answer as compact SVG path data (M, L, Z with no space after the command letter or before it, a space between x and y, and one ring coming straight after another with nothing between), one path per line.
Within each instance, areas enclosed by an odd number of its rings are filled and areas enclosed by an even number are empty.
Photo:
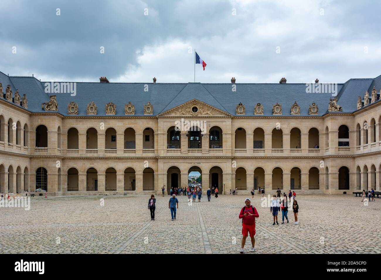
M255 218L259 218L259 214L255 207L251 205L250 198L245 199L245 206L241 209L239 218L242 219L242 242L240 253L243 253L243 247L245 246L248 233L250 234L251 245L253 246L250 252L255 252Z

